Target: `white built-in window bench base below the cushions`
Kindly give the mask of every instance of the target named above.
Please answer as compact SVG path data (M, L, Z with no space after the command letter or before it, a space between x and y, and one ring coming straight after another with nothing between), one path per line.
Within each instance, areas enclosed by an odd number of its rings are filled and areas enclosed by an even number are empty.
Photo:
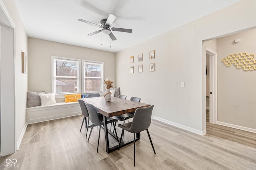
M82 111L78 102L58 102L49 106L26 108L26 120L28 124L81 114Z

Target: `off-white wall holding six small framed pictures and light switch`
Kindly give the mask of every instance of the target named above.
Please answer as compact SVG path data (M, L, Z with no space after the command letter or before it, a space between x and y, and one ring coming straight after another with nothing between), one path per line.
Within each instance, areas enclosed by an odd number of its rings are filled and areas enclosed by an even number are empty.
M241 1L120 51L116 53L117 86L128 98L138 96L141 102L154 105L154 116L203 133L206 57L202 41L252 27L256 27L256 1ZM153 49L156 59L149 60ZM144 61L139 63L140 53L144 53ZM130 64L132 55L135 62ZM149 72L152 62L156 63L155 72ZM138 73L139 64L144 64L143 73ZM133 74L130 66L135 68ZM180 82L185 82L184 88Z

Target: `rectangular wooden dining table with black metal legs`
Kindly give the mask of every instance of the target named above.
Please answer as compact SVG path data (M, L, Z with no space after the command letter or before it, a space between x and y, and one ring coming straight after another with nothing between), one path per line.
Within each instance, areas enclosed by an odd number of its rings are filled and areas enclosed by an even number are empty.
M108 134L111 133L111 131L108 131L107 117L113 117L116 115L122 115L124 113L130 113L135 111L137 108L150 106L150 104L134 102L132 100L126 100L126 99L121 99L116 97L112 97L110 102L106 102L104 97L83 98L82 100L88 104L92 104L95 107L96 111L103 115L103 126L104 126L107 153L110 153L118 149L118 145L110 148ZM140 139L140 134L137 133L136 140L139 140L139 139ZM132 142L133 142L133 139L132 141L129 141L126 143L123 142L120 147L124 147Z

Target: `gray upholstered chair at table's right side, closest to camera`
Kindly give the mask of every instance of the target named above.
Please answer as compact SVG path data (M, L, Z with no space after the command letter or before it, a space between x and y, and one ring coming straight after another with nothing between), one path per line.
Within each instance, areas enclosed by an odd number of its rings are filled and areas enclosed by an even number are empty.
M122 136L124 135L124 130L130 133L133 133L134 166L135 166L135 134L136 133L140 133L141 131L147 130L148 138L150 140L152 149L154 150L154 154L156 154L156 151L154 149L152 140L148 132L148 127L150 126L150 123L151 123L151 115L152 115L153 107L154 105L136 109L132 122L125 123L123 125L120 125L120 124L118 125L123 129L120 137L118 149L120 148L120 145L121 145L121 141L122 141L121 139L122 139Z

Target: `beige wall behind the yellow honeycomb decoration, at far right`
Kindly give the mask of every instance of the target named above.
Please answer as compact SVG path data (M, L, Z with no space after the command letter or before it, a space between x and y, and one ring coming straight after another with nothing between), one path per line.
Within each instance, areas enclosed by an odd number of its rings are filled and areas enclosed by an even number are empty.
M237 38L239 43L234 42ZM228 55L243 52L256 55L256 29L217 39L218 121L256 132L256 70L222 62Z

